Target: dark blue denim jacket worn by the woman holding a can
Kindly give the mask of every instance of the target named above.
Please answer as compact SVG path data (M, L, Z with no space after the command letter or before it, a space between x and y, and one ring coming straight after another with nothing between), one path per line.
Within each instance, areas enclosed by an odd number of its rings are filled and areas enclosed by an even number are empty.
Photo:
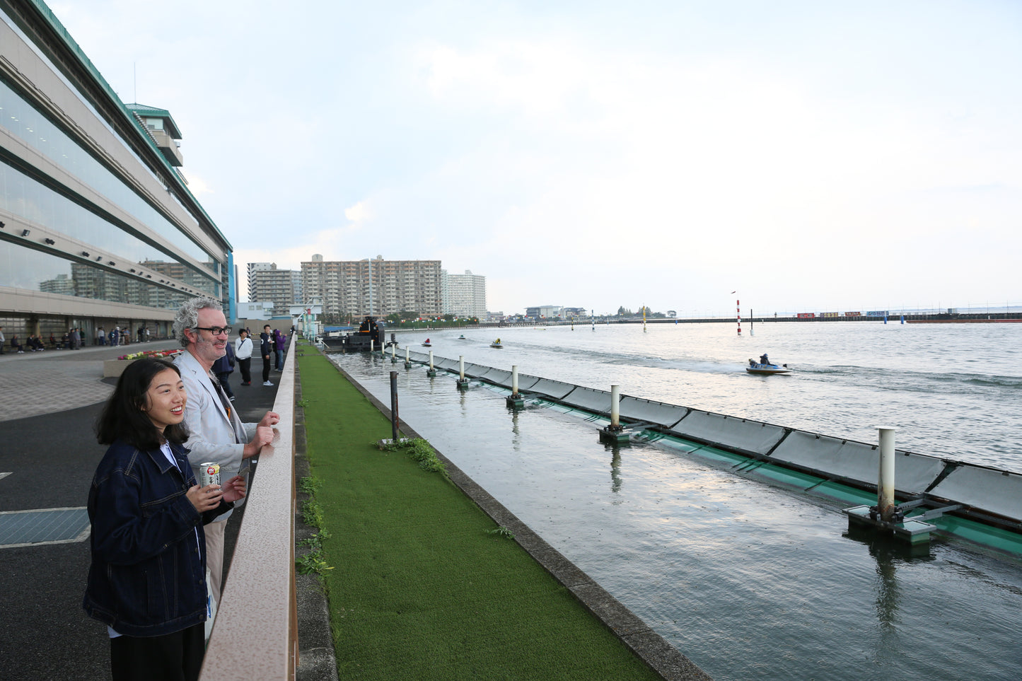
M161 636L205 621L202 525L233 504L200 515L185 496L195 485L187 450L172 450L177 468L159 449L118 441L89 490L92 564L82 606L119 634Z

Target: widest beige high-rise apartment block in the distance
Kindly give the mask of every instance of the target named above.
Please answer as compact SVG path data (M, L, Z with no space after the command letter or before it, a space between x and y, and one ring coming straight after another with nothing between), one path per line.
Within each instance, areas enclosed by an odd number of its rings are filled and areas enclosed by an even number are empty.
M440 261L324 261L320 255L301 263L305 296L323 301L328 315L372 315L416 312L440 314Z

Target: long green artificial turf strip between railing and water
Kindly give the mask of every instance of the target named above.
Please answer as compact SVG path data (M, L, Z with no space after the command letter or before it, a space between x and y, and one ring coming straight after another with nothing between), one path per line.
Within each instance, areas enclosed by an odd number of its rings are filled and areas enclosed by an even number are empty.
M299 358L341 679L657 679L457 487L373 443L390 423Z

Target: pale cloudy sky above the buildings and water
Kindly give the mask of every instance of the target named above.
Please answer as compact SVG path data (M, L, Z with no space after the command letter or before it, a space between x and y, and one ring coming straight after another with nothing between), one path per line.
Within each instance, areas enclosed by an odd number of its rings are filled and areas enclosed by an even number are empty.
M49 6L171 111L242 272L440 260L505 314L1022 302L1014 0Z

